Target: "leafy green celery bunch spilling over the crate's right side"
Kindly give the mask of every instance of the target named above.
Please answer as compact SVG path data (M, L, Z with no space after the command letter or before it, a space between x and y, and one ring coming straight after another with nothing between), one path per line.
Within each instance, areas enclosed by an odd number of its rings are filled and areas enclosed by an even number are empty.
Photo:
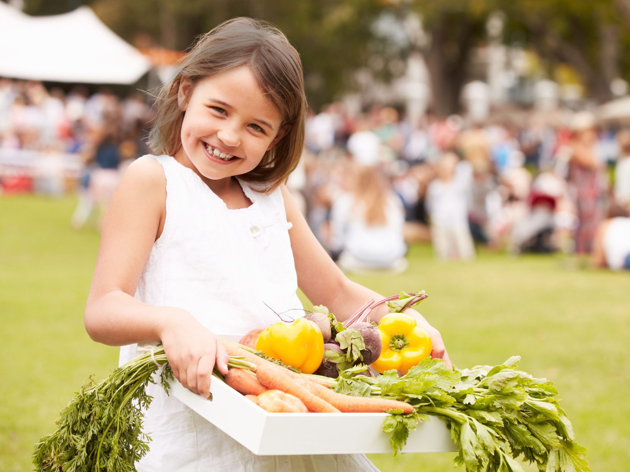
M476 366L461 372L444 360L427 357L404 376L387 371L375 379L341 372L335 386L346 391L404 400L415 413L392 410L383 430L398 452L410 430L427 415L445 418L459 449L455 464L467 472L523 472L522 460L539 471L588 472L586 449L575 442L558 391L547 379L517 370L520 357L499 366ZM367 388L367 391L366 391Z

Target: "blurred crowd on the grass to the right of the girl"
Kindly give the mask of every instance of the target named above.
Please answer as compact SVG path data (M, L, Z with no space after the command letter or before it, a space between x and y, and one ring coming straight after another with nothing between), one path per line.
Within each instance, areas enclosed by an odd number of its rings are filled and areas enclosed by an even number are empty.
M427 113L414 125L395 108L352 115L333 103L306 132L293 187L342 267L398 270L413 241L432 241L443 260L487 245L630 267L630 130L591 113Z

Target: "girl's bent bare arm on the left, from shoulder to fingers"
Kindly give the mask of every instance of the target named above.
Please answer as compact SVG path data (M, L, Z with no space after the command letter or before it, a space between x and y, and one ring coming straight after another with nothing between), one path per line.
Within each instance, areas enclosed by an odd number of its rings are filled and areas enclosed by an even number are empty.
M149 306L134 298L165 217L162 166L153 158L138 159L125 171L107 209L85 328L96 342L113 346L161 341L176 378L207 395L215 359L227 373L222 343L187 311Z

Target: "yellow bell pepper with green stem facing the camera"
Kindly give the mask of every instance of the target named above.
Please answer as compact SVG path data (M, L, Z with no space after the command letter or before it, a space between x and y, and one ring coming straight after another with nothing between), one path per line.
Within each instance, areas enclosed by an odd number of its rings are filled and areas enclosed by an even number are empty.
M431 355L433 343L427 331L416 326L416 319L404 313L389 313L377 327L382 350L372 367L381 374L394 369L406 374L411 367Z

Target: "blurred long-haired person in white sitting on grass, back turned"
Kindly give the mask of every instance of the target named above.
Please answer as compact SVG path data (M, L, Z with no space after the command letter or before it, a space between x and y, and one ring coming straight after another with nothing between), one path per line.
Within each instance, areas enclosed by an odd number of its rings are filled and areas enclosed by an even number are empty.
M406 269L403 205L376 168L357 168L352 191L333 203L330 224L329 248L343 270Z

